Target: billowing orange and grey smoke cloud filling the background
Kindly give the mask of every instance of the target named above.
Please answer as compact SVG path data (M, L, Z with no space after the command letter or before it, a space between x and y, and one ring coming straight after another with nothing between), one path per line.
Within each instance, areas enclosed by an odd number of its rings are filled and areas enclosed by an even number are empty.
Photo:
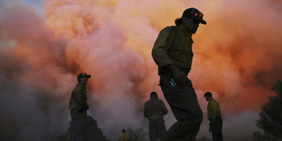
M128 125L146 128L143 102L151 91L164 99L152 46L159 30L173 25L188 7L201 10L208 23L193 35L189 77L204 113L205 91L220 102L224 128L234 128L235 120L227 120L234 114L239 114L234 119L250 121L246 115L255 113L244 111L258 111L272 82L282 77L277 1L48 0L44 17L24 4L1 5L4 140L49 140L63 133L69 126L70 92L81 72L92 76L88 114L110 139ZM167 127L175 121L172 112L165 120ZM205 129L199 135L206 135Z

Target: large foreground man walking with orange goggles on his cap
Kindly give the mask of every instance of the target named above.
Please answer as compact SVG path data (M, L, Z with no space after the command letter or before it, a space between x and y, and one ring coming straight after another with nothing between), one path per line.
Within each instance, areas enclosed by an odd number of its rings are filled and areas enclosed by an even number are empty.
M203 120L192 82L188 79L193 51L192 34L199 24L206 24L203 13L196 8L186 9L176 26L161 30L154 43L152 56L158 65L160 86L166 101L177 119L161 141L194 141Z

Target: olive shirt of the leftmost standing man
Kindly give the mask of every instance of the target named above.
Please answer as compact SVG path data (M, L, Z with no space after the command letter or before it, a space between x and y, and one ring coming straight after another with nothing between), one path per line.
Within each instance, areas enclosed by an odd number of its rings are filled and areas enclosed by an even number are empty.
M84 108L88 110L89 106L87 104L87 92L85 84L79 82L76 84L75 88L71 92L70 96L70 110L74 108Z

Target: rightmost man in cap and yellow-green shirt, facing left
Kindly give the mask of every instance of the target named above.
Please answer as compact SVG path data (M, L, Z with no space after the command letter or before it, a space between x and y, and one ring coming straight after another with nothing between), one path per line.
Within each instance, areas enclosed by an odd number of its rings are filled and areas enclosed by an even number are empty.
M222 137L222 118L220 112L220 106L216 100L212 98L212 93L207 91L204 95L206 101L208 101L207 114L208 119L210 120L209 132L212 132L213 141L223 141Z

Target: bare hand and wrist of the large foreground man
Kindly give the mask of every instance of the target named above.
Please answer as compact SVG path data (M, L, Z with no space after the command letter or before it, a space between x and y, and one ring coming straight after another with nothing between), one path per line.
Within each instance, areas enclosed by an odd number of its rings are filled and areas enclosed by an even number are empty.
M170 64L167 67L172 71L172 74L175 78L176 83L178 83L178 84L187 83L187 84L190 85L190 80L187 78L187 76L184 74L184 72L182 72L181 70L179 70L177 68L176 65Z

